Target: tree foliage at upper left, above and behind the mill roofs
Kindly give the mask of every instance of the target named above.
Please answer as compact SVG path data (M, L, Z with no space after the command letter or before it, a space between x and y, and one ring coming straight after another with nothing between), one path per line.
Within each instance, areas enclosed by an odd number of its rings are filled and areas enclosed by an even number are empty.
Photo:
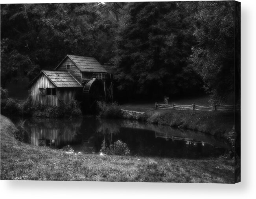
M109 15L96 3L2 5L1 85L54 69L66 54L108 62L116 26Z

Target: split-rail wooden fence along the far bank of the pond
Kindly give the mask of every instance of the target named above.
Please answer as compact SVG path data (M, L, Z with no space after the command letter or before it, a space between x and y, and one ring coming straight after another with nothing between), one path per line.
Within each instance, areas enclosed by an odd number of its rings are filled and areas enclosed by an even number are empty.
M155 103L156 109L172 109L172 110L190 110L190 111L234 111L240 110L240 105L222 105L216 104L213 106L199 106L195 103L192 105L182 105L182 104L157 104Z

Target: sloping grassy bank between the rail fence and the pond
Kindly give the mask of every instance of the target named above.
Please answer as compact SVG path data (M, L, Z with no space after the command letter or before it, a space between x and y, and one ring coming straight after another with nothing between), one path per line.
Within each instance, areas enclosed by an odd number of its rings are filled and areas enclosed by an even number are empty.
M232 111L154 110L147 112L147 122L197 130L226 137L234 126Z

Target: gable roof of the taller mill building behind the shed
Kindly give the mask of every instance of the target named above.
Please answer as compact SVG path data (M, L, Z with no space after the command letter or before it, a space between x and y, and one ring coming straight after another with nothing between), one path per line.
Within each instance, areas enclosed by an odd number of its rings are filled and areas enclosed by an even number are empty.
M81 72L94 72L94 73L107 73L107 71L101 66L101 64L94 57L84 57L78 55L66 55L61 63L70 58L72 62L77 66ZM61 65L61 63L55 68L55 70Z

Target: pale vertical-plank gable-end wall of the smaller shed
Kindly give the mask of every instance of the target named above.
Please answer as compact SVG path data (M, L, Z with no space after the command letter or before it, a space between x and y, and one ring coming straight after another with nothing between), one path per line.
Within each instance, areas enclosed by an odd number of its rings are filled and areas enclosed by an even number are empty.
M30 88L32 104L37 104L37 102L41 102L41 104L46 106L57 106L58 98L57 95L39 95L39 88L56 88L53 83L42 73L37 80L33 83Z

